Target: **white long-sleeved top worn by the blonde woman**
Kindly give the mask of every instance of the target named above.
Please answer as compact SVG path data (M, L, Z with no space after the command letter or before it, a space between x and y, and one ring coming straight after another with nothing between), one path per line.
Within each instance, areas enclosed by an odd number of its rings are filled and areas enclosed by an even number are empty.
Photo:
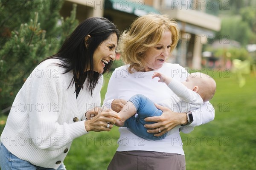
M185 81L188 76L186 69L178 64L165 63L158 70L134 72L133 74L128 73L127 65L121 66L115 69L108 83L104 106L111 106L113 99L128 100L135 94L143 94L155 103L169 99L174 93L166 84L158 82L158 79L151 78L155 71L172 76L173 79L180 82ZM213 107L211 107L211 110L206 108L209 105L212 106L209 102L206 102L200 109L192 111L194 122L190 124L191 126L202 125L214 119ZM177 126L170 130L169 135L159 141L142 139L132 133L127 127L120 127L117 151L146 150L184 155L179 127Z

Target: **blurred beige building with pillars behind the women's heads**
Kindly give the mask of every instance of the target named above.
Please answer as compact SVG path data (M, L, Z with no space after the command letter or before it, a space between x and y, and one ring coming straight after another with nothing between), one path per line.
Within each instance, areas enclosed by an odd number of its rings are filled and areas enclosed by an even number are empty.
M120 31L128 29L134 19L148 13L168 14L180 26L180 42L169 62L183 67L201 68L202 48L214 40L221 28L217 17L220 3L212 0L65 0L61 15L69 16L77 4L79 22L88 17L106 17Z

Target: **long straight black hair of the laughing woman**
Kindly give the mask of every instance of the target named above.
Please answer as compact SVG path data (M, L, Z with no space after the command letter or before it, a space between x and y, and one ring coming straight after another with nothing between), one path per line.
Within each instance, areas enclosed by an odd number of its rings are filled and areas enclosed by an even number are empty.
M118 29L108 19L104 17L90 17L80 23L75 31L67 37L57 54L47 57L46 59L61 59L62 63L58 65L66 68L64 74L73 71L75 75L79 75L78 79L74 77L71 80L70 85L76 81L79 86L84 88L83 85L87 79L86 89L90 90L92 95L93 89L99 81L99 77L108 71L113 62L110 61L104 67L102 74L93 71L94 51L113 33L116 33L117 39L119 39ZM90 40L86 42L85 46L84 38L87 37L87 35L90 35ZM89 65L90 70L85 71Z

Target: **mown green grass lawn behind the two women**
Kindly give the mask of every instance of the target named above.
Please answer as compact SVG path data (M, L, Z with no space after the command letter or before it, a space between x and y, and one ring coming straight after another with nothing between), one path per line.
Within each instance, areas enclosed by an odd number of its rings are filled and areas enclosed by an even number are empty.
M245 75L246 84L239 88L236 75L208 72L217 83L211 103L215 119L181 133L187 170L255 170L256 169L256 79ZM108 79L102 88L102 101ZM5 116L0 117L5 120ZM4 125L0 125L3 129ZM67 170L105 170L111 161L119 137L117 127L111 132L90 132L75 139L64 164Z

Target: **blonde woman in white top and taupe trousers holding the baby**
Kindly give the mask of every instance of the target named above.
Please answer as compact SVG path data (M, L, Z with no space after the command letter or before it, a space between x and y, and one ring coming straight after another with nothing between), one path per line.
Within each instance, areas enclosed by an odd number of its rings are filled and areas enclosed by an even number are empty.
M135 94L143 94L153 102L168 99L174 93L157 79L152 79L155 71L171 74L173 79L183 82L188 76L185 68L166 60L179 40L177 23L167 15L147 14L138 17L119 40L119 52L126 65L116 68L108 84L105 106L119 112L125 102ZM145 140L132 133L127 127L120 127L119 147L108 166L109 170L139 169L185 169L185 156L180 138L180 125L198 126L214 119L214 109L207 110L209 102L201 109L188 113L163 111L161 116L145 119L155 122L145 125L148 133L161 136L163 140ZM193 128L191 128L193 129Z

